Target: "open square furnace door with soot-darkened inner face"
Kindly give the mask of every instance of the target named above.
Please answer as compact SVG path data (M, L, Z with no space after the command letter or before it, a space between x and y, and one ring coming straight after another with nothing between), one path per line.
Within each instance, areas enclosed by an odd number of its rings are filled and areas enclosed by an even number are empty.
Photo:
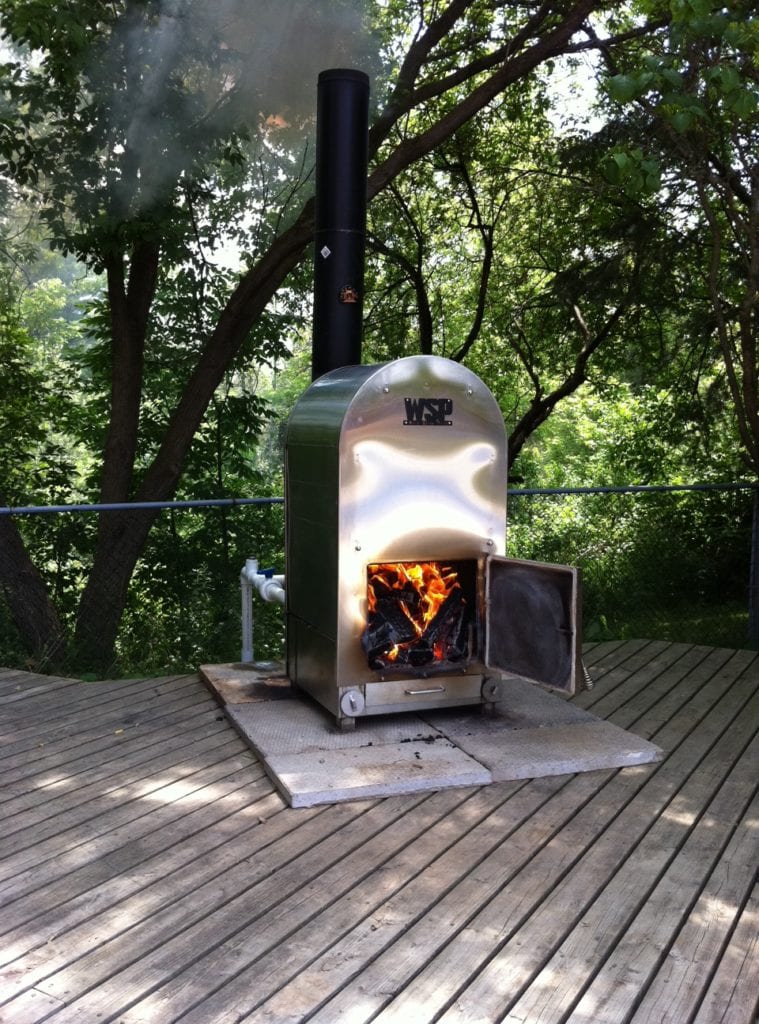
M492 555L486 607L489 669L575 692L582 678L579 569Z

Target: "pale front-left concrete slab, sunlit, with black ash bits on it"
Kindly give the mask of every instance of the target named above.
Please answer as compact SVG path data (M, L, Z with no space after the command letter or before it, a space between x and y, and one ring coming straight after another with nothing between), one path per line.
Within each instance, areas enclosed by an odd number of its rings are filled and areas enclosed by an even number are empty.
M442 738L273 755L266 768L292 807L492 781L487 768Z

